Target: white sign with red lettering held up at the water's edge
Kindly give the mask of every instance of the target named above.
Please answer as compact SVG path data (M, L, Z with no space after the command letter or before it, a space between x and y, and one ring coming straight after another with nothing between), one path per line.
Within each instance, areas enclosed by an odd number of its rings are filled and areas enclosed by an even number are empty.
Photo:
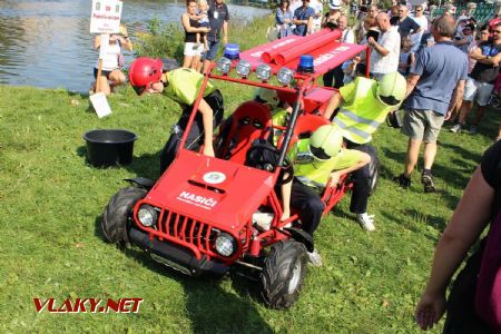
M121 0L92 0L90 33L119 32L121 7Z

